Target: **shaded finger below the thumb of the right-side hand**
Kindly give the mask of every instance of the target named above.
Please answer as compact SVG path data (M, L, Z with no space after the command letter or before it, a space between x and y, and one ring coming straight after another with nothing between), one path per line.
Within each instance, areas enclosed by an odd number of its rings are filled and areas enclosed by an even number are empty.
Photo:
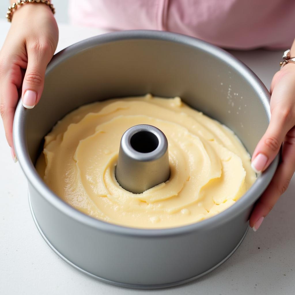
M250 226L258 230L263 218L271 211L281 194L288 188L295 171L295 128L290 130L283 143L282 161L270 185L254 207L250 217Z

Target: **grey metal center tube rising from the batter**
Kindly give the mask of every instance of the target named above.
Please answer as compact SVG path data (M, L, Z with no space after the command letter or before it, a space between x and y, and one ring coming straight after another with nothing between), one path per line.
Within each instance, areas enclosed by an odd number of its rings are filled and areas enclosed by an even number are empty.
M151 125L135 125L122 136L115 171L120 186L134 194L165 182L170 177L168 141Z

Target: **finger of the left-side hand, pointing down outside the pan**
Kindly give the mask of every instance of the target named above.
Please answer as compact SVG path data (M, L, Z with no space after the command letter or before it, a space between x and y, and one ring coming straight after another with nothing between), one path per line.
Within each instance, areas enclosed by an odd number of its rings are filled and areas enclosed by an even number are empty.
M3 120L6 140L12 148L14 154L14 146L12 139L12 125L14 119L14 111L17 106L19 94L18 88L22 82L21 68L18 65L9 65L10 69L6 71L6 77L1 79L0 85L0 111Z

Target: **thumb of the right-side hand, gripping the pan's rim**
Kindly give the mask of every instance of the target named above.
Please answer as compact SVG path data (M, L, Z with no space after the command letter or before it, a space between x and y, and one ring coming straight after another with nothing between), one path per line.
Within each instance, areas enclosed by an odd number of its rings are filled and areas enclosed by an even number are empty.
M291 129L288 116L288 112L278 108L272 112L268 128L252 156L252 168L256 173L264 171L278 154L287 132Z

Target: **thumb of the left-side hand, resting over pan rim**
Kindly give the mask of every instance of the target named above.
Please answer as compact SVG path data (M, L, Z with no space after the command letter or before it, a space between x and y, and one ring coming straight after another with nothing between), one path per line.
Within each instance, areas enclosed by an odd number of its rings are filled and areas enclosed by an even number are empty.
M27 48L28 65L22 85L22 104L32 109L40 100L44 87L45 70L51 59L46 45L34 44Z

